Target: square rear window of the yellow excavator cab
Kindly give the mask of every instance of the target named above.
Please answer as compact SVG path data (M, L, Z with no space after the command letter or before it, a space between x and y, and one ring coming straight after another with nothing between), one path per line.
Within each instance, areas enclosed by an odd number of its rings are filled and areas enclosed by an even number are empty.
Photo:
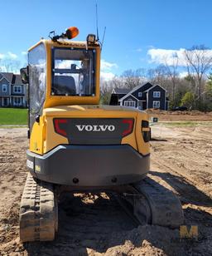
M52 96L95 96L95 50L53 48Z

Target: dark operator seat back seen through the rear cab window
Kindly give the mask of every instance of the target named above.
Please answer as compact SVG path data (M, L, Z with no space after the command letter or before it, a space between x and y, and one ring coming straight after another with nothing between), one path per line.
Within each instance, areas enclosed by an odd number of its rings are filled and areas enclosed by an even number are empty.
M55 76L52 89L56 95L75 95L75 78L73 76Z

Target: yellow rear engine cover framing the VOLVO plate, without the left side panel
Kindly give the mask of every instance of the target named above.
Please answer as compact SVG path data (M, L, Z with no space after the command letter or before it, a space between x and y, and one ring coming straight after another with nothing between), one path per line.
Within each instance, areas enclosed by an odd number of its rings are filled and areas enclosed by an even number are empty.
M137 113L139 112L139 135L137 141ZM141 120L147 119L147 114L141 111L132 111L132 109L121 106L58 106L47 108L43 111L46 116L46 141L44 141L44 153L60 144L69 144L63 135L55 133L53 119L56 118L133 118L134 128L130 135L123 137L121 144L131 145L138 150L137 143L140 143L139 152L147 155L148 145L142 140Z

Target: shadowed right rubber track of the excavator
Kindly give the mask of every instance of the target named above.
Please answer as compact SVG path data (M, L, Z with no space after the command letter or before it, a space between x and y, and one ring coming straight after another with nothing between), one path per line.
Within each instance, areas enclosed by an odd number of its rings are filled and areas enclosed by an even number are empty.
M181 201L171 190L149 177L133 186L147 198L152 212L151 224L171 228L177 228L183 224Z

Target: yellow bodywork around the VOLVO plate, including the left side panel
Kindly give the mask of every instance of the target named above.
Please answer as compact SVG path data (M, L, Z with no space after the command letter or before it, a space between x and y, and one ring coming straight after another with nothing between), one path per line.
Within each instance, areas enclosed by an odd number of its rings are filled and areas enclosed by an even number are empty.
M34 124L31 131L30 150L36 154L42 155L52 150L57 145L69 144L68 139L63 135L55 133L53 119L57 118L133 118L134 126L132 133L123 137L121 144L131 145L142 155L149 154L149 142L144 142L142 138L142 120L148 121L146 112L129 111L114 106L60 106L57 108L48 108L40 117L40 123ZM145 128L147 130L148 128Z

